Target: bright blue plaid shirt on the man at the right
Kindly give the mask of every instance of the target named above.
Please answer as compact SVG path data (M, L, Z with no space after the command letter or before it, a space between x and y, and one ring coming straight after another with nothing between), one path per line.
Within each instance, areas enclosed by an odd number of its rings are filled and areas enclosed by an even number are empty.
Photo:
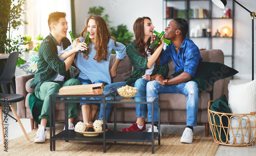
M183 40L178 53L173 43L166 47L161 55L161 65L170 59L174 61L175 73L184 70L193 77L197 71L198 63L203 61L199 48L187 37Z

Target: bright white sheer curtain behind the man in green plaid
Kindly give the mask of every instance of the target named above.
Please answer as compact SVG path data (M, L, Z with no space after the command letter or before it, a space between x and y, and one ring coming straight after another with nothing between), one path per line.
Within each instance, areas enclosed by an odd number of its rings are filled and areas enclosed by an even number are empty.
M49 35L48 17L55 11L66 12L68 31L72 30L70 0L27 0L25 10L25 20L28 21L28 25L24 26L24 33L31 36L32 40L35 40L38 34L44 37ZM70 35L67 37L71 40Z

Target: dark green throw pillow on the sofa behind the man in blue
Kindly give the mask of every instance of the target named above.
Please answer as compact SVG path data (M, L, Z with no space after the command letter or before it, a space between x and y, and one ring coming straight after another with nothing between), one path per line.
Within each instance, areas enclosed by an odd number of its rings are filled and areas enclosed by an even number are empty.
M182 71L172 74L176 77L180 75ZM198 84L199 90L203 92L208 86L215 81L223 78L227 78L237 74L238 71L230 68L229 66L218 62L199 62L197 72L191 81L195 81Z

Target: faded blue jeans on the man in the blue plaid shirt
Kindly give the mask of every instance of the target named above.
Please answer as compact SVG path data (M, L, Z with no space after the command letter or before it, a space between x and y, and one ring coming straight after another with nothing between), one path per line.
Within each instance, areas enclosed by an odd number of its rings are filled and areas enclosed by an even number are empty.
M186 109L187 126L197 126L198 113L198 84L188 81L180 84L161 85L157 81L148 82L146 85L147 97L158 97L160 93L179 93L187 96Z

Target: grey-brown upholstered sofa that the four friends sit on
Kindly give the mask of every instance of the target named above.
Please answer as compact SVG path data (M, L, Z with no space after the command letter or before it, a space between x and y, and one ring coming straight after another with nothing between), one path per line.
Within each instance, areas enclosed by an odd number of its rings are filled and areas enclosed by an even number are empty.
M221 50L205 50L200 51L203 61L224 63L224 54ZM110 61L110 68L114 64L116 55L112 54ZM172 60L168 62L169 73L168 79L172 78L174 73L174 63ZM112 82L124 81L125 78L132 74L132 64L130 59L126 56L120 61L117 68L117 76L113 78ZM30 88L30 82L34 75L22 75L16 77L16 92L25 96L23 101L17 102L17 114L20 119L31 119L31 128L34 128L34 120L32 118L31 110L28 104L28 98L34 92ZM208 101L216 100L222 95L228 95L227 85L229 78L220 79L213 85L209 86L204 92L199 93L198 104L198 125L205 125L205 135L209 133L209 123L207 117ZM161 124L186 124L186 96L182 94L160 94L160 108L161 108ZM56 105L56 120L64 121L64 106ZM99 112L99 111L98 111ZM98 112L95 119L98 119ZM78 112L78 121L82 121L81 110ZM134 123L136 121L136 109L134 104L118 104L117 105L117 123ZM147 119L145 119L147 121ZM113 111L110 114L109 123L114 122ZM35 123L37 127L38 124Z

